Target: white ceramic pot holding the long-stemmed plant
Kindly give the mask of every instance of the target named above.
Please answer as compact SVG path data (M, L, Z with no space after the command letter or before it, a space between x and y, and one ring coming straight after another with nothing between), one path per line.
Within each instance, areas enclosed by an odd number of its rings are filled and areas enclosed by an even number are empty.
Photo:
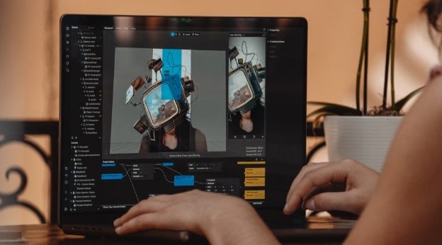
M381 171L403 116L340 116L324 119L329 161L355 159Z

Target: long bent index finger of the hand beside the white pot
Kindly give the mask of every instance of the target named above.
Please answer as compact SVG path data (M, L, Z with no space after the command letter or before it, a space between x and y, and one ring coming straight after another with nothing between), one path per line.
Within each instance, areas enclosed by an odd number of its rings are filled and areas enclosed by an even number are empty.
M327 166L320 166L312 171L307 171L290 187L290 193L288 193L283 212L285 214L295 212L312 188L324 186L330 182L344 183L347 176L348 171L341 163L328 164Z

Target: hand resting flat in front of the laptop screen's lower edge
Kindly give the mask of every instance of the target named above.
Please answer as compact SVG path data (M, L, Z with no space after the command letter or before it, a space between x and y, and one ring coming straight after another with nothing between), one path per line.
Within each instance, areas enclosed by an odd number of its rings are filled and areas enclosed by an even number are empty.
M203 235L210 244L278 243L249 203L232 195L200 190L142 200L115 220L114 226L117 234L144 229L186 230Z

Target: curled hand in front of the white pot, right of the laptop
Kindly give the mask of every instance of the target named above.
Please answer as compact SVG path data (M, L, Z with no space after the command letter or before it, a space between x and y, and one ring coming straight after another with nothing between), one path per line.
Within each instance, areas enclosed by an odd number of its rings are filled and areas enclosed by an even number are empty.
M302 207L360 215L375 189L378 176L378 172L351 159L309 163L290 186L283 211L291 214Z

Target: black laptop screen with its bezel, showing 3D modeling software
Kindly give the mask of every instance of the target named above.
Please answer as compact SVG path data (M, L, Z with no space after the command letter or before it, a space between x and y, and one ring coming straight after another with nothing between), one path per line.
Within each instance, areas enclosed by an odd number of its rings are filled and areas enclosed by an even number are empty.
M282 215L305 164L304 18L65 15L60 48L61 224L195 188Z

